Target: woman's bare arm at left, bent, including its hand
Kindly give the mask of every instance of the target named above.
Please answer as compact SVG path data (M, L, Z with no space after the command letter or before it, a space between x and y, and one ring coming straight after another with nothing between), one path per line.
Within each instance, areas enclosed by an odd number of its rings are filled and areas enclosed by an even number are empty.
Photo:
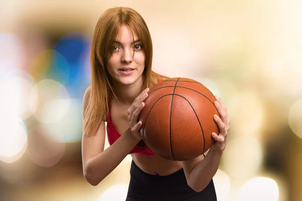
M85 92L83 99L83 118L89 99L89 89ZM138 114L142 110L145 99L145 90L135 99L130 107L128 119L137 121ZM129 120L129 121L130 121ZM85 179L91 185L98 185L120 162L128 155L133 147L141 139L138 130L141 122L138 122L132 129L129 128L110 147L104 150L105 143L105 122L102 121L96 135L82 138L82 160Z

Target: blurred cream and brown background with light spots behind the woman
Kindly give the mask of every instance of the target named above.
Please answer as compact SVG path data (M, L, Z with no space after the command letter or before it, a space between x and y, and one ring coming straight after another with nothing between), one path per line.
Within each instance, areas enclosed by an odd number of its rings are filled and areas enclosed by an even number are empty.
M125 199L130 156L98 186L81 158L91 38L116 6L145 19L155 71L200 81L228 108L218 200L302 200L299 0L1 0L0 200Z

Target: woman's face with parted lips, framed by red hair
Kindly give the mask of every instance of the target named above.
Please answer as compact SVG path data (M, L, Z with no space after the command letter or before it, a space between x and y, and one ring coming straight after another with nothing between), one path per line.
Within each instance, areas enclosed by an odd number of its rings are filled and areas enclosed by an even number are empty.
M124 85L132 84L137 80L141 81L145 54L141 41L134 33L132 36L129 27L121 27L112 48L113 54L108 59L107 70L113 81Z

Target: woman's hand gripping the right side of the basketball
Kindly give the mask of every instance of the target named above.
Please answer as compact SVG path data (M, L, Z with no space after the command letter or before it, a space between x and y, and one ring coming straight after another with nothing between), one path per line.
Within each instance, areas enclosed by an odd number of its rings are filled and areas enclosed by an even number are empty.
M220 118L217 115L214 115L214 121L216 122L219 128L219 134L212 133L212 137L215 140L215 143L212 145L214 151L222 153L226 145L226 136L230 129L230 119L228 112L221 100L217 95L215 95L216 101L214 102L215 108L217 109Z

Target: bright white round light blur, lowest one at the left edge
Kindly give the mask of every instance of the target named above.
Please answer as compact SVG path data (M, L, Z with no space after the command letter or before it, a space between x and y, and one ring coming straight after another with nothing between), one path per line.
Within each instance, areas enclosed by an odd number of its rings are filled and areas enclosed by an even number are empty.
M13 163L27 148L27 130L18 118L0 116L0 160Z

